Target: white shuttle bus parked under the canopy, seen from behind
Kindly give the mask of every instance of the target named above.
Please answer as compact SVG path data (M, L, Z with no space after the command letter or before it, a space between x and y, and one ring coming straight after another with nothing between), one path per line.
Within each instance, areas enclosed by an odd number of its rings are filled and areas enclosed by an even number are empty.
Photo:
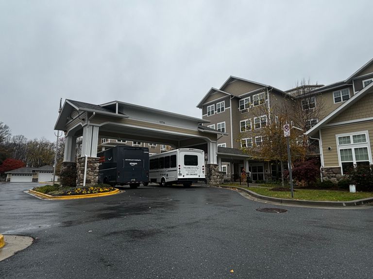
M193 148L180 148L149 156L150 182L161 186L205 182L204 152Z

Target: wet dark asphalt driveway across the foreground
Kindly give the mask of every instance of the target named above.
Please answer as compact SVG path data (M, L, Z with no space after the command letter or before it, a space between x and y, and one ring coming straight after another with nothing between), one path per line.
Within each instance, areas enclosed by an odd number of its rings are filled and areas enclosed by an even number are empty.
M35 239L0 262L2 279L372 278L373 208L278 206L205 186L44 201L23 193L36 185L0 183L0 233Z

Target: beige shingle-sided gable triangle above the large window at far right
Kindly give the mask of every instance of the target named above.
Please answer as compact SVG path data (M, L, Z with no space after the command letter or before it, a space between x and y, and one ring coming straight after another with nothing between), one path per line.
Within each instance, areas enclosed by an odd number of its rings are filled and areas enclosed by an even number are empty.
M330 123L373 117L373 94L367 94L351 107L340 113Z

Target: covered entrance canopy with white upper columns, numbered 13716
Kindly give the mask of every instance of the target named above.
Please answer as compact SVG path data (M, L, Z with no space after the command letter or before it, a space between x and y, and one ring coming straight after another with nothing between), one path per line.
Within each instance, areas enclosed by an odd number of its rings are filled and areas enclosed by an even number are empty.
M217 164L217 139L225 133L203 123L209 121L119 101L94 105L66 100L54 129L65 132L64 162L75 161L76 138L83 136L82 156L96 157L102 137L200 148L207 164Z

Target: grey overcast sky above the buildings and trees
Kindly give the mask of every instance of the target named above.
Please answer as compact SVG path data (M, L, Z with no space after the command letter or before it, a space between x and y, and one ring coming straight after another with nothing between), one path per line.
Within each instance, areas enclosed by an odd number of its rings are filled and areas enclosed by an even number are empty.
M373 58L373 1L0 0L0 121L54 140L59 99L194 117L237 76L287 90Z

